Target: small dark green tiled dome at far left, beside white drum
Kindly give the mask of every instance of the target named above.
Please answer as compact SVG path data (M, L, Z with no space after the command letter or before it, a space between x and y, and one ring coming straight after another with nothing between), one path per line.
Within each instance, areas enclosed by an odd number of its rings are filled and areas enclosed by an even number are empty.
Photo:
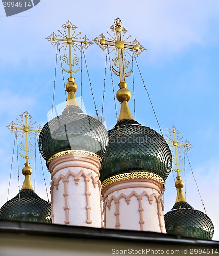
M51 223L51 205L31 189L23 189L0 209L0 219Z

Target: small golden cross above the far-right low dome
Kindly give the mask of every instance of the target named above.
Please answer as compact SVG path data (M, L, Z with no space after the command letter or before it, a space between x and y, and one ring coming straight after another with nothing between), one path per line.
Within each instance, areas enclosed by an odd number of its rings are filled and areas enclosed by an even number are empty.
M173 155L172 155L172 158L173 158L173 163L177 167L176 169L172 167L172 169L175 172L177 172L177 176L179 176L179 173L184 170L184 168L179 169L179 166L184 162L184 160L182 159L181 156L178 157L177 150L179 151L179 153L181 153L183 151L183 148L185 148L186 151L189 151L193 146L188 142L188 140L186 140L184 143L184 141L182 141L183 137L180 137L180 138L179 136L176 137L176 134L179 134L180 132L174 126L171 129L169 129L168 132L173 133L173 138L172 138L172 135L170 136L166 135L166 136L168 138L167 143L171 145L172 152L174 148L175 158Z

